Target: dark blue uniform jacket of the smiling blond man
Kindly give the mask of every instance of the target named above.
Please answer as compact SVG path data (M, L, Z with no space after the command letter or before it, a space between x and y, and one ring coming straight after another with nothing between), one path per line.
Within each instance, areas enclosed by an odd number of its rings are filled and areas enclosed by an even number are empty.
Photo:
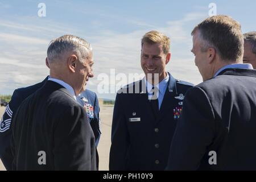
M174 109L180 107L180 94L191 84L170 75L159 115L154 115L148 94L141 92L144 80L119 90L112 122L110 170L163 170L166 167L172 134L176 127ZM139 92L135 93L139 84ZM129 90L133 93L128 93ZM126 93L123 93L125 91ZM175 98L176 97L176 98Z

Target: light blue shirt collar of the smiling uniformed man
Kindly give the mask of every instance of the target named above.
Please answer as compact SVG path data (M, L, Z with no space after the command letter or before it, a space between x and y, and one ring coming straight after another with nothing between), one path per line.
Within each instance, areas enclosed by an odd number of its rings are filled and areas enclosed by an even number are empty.
M167 76L158 84L155 85L155 87L158 88L159 92L156 93L157 98L158 98L158 109L160 110L161 104L163 102L163 98L164 98L164 93L166 92L166 88L168 86L168 81L169 81L169 75L167 73ZM148 98L150 99L152 97L152 95L150 94L150 91L152 90L152 87L154 85L150 84L150 82L147 81L146 77L144 77L144 81L146 83L146 87L147 87L147 93L148 93Z

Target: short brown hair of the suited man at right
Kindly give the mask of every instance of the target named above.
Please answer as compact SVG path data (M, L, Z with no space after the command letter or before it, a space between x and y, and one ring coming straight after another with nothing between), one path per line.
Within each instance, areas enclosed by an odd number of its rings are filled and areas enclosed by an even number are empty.
M213 47L223 60L242 60L243 34L236 20L226 15L211 16L199 23L191 35L197 30L202 43L201 51Z

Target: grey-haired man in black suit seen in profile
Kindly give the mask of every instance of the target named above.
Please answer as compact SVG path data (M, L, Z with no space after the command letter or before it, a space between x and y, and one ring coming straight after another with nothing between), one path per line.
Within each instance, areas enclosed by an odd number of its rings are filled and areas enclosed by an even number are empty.
M95 170L94 134L76 101L93 77L92 48L83 39L64 35L49 45L47 63L50 77L43 86L27 89L38 90L13 115L12 169Z

